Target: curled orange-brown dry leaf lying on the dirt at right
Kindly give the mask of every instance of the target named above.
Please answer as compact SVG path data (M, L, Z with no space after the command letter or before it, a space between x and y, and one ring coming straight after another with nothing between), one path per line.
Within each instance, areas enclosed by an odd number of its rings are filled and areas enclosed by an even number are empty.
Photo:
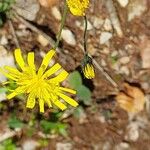
M119 106L127 112L138 113L144 109L145 95L138 87L124 83L124 91L119 92L116 100Z

